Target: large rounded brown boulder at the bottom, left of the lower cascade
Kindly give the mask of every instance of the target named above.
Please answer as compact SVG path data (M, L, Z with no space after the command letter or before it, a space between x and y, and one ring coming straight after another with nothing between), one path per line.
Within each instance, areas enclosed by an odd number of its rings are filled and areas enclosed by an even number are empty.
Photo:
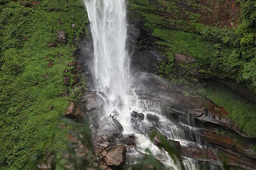
M111 149L105 157L107 165L119 166L125 163L125 154L126 148L122 145Z

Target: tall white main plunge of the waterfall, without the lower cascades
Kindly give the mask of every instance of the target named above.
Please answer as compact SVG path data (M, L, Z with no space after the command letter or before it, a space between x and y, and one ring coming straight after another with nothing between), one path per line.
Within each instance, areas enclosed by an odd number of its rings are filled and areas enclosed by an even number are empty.
M94 73L98 91L104 94L106 116L114 114L124 131L129 125L130 62L125 50L125 0L83 0L94 43Z

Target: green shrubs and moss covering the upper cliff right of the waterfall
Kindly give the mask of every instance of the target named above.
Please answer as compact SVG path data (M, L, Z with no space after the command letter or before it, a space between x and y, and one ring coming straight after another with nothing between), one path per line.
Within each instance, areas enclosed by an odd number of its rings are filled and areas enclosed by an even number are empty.
M202 24L200 13L185 10L177 0L157 0L157 3L148 0L130 0L129 2L131 10L136 10L145 17L147 22L144 25L154 32L153 36L164 40L161 43L157 42L158 45L172 48L170 52L173 54L188 54L196 59L197 63L191 65L191 68L203 66L211 76L231 78L237 83L244 83L250 90L256 91L255 0L239 0L241 21L232 29ZM187 0L187 4L191 9L201 7L210 10L209 7L197 4L193 0ZM159 5L164 6L165 9L156 8ZM162 11L170 15L158 15ZM181 12L188 16L187 20L182 19ZM169 28L185 32L180 33ZM181 34L183 36L180 36ZM195 41L197 41L196 45L193 44ZM185 49L187 51L184 51ZM172 66L172 61L163 64L160 73L168 76Z

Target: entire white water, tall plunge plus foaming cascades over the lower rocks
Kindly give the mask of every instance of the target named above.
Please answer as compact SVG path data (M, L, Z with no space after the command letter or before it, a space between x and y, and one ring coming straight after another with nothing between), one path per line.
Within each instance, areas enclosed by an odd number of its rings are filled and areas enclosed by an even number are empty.
M156 126L164 135L180 141L181 145L185 146L189 143L184 139L184 132L164 117L158 102L138 100L136 96L129 93L131 76L130 61L125 50L127 30L125 0L83 1L88 12L93 36L94 73L98 87L96 90L104 94L102 97L106 101L105 117L109 117L110 114L115 115L124 128L123 134L135 134L140 152L149 148L152 154L168 169L179 170L180 167L174 164L168 153L159 150L145 134L138 132L138 129L143 131L146 127ZM138 124L136 131L130 122L130 112L132 111L130 108L139 110L144 115L146 113L157 115L160 119L158 125L144 119ZM101 127L107 128L105 125ZM135 157L138 155L134 149L130 149L130 154ZM196 169L197 162L193 159L184 158L183 163L187 170Z

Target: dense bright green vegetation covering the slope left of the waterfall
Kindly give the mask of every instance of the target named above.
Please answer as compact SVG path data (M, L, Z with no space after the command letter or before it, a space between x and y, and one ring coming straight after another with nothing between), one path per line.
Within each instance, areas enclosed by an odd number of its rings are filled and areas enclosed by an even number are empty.
M63 86L63 76L70 76L72 85L74 66L67 64L73 61L71 51L76 50L73 35L87 21L79 0L24 3L26 7L19 0L0 0L1 170L34 170L46 160L46 150L64 165L61 149L67 149L67 130L59 130L58 125L63 124L60 118L74 93L70 86ZM71 24L76 24L76 30ZM66 33L67 45L49 48L60 29ZM65 89L70 97L58 97Z

